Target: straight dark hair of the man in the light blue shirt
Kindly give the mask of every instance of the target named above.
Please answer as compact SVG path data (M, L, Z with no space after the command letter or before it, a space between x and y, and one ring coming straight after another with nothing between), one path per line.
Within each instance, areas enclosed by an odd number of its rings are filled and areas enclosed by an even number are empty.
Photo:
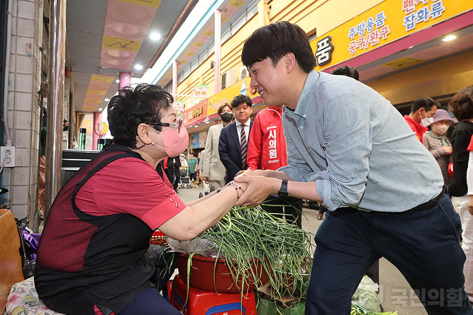
M274 22L253 32L245 41L241 61L247 67L270 58L275 67L287 53L293 53L305 73L317 65L309 37L301 27L286 21Z

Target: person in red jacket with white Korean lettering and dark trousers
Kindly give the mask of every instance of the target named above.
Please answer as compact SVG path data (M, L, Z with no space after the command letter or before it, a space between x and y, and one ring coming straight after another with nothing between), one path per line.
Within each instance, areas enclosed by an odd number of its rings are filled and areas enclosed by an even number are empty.
M246 153L248 168L277 170L287 165L281 115L282 105L266 107L256 114ZM302 199L269 196L261 207L281 218L284 213L286 221L302 227Z

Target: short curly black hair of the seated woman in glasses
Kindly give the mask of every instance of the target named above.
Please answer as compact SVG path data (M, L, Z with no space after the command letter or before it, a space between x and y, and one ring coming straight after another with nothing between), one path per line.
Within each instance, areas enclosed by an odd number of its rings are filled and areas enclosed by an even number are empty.
M127 86L108 102L107 120L113 142L136 146L136 129L141 123L160 123L164 110L172 107L173 97L161 86L141 83ZM158 131L162 127L153 126Z

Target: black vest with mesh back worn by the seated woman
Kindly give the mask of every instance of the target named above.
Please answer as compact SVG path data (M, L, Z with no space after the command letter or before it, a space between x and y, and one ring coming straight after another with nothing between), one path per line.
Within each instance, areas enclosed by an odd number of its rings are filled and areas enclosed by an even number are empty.
M75 204L87 180L119 158L142 159L128 147L106 145L64 185L51 206L34 283L40 299L56 312L93 315L99 305L118 314L153 286L148 279L155 267L145 253L151 228L129 214L92 216Z

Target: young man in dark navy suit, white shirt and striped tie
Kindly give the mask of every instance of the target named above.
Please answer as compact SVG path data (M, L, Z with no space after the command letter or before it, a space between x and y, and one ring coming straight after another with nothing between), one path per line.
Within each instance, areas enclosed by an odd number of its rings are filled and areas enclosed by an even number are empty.
M253 103L248 95L238 95L232 100L235 120L230 125L222 128L218 141L218 154L227 169L225 183L233 181L236 173L247 168L246 150L248 148L248 135L253 121L250 115L253 112Z

